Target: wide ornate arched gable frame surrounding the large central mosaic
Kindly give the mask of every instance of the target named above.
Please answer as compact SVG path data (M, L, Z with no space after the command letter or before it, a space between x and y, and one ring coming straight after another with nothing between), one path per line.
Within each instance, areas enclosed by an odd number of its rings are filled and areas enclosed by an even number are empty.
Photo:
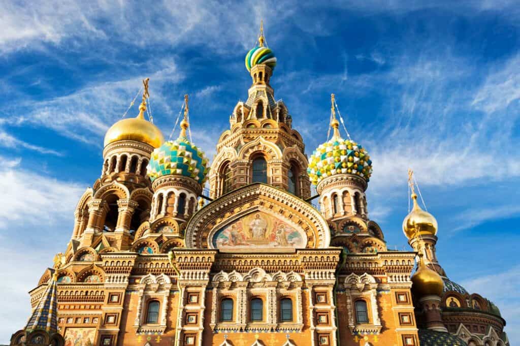
M219 230L255 212L303 231L305 248L329 247L330 230L319 211L287 191L260 183L233 190L194 214L186 226L186 247L214 248L212 237Z

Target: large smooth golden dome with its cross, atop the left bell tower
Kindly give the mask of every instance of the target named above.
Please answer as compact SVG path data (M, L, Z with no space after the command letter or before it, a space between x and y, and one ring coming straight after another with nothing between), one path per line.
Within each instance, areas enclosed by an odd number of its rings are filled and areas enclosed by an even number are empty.
M164 142L161 130L145 119L146 97L148 96L148 78L143 81L145 93L136 118L127 118L113 124L105 134L105 146L118 140L137 140L158 148Z

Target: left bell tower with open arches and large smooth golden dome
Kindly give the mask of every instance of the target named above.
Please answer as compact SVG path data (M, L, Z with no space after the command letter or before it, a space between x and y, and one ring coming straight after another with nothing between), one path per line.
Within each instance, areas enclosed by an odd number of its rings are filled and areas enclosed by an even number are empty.
M77 204L72 241L77 248L95 248L100 235L105 247L128 249L139 225L150 215L150 153L163 142L161 131L145 120L148 81L136 118L113 124L105 135L101 177Z

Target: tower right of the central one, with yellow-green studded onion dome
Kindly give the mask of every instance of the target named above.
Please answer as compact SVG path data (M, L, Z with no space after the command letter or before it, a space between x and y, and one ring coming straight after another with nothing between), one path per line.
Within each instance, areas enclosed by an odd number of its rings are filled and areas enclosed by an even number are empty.
M365 191L372 161L361 144L341 138L334 94L330 126L332 138L313 152L307 171L316 185L321 213L331 228L331 245L347 252L385 251L381 228L368 217Z

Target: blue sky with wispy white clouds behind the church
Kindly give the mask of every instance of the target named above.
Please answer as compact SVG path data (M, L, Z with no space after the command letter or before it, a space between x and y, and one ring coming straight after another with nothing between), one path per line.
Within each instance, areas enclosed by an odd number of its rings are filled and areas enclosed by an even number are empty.
M167 137L190 94L209 157L251 80L260 19L278 57L271 80L308 154L327 136L330 94L371 153L370 216L408 249L407 169L439 222L449 277L483 294L520 338L520 6L421 2L2 2L0 342L29 317L27 291L70 239L100 174L102 138L150 78ZM137 114L137 106L129 116Z

